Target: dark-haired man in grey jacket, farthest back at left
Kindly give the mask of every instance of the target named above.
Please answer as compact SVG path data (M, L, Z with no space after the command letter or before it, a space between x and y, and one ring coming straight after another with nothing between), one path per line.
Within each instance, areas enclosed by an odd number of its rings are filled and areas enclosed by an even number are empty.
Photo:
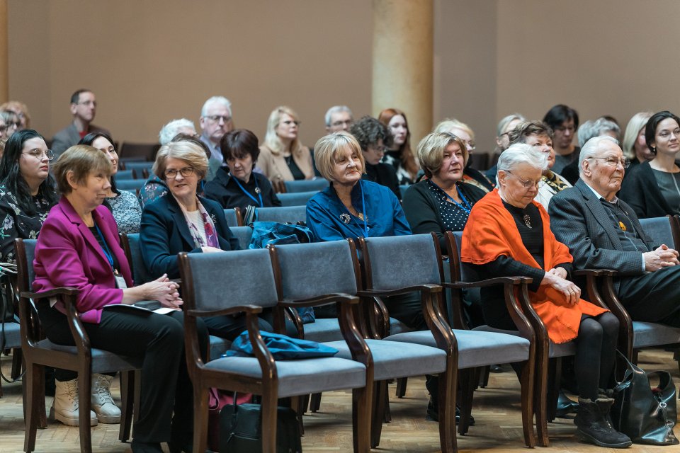
M55 153L55 158L59 157L69 147L78 144L80 139L90 132L103 132L104 134L111 135L108 130L91 124L94 120L94 115L97 113L97 100L92 91L81 89L73 93L70 109L71 115L73 115L73 122L68 127L64 127L64 129L57 132L52 139L52 151Z

